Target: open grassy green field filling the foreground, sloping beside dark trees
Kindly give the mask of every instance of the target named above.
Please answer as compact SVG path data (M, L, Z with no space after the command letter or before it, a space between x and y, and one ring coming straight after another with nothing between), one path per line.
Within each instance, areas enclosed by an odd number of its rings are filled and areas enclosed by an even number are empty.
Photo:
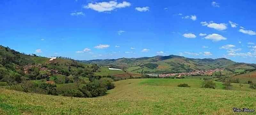
M2 115L236 115L233 107L256 109L256 92L198 88L201 80L131 79L115 83L107 96L74 98L0 88ZM176 87L188 83L191 88ZM241 100L241 101L239 101ZM250 113L241 113L250 114ZM254 114L254 113L251 113Z

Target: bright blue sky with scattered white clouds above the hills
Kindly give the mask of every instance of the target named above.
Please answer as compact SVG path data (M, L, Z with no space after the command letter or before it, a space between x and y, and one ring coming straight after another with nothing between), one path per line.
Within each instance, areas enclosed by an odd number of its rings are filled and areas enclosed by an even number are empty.
M256 62L254 0L1 0L0 6L0 44L26 54Z

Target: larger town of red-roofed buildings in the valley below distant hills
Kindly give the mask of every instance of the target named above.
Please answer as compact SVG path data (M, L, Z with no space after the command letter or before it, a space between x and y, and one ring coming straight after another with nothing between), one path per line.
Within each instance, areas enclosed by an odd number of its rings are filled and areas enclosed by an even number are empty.
M182 73L173 73L173 74L158 74L160 78L164 77L171 77L171 76L192 76L192 75L212 75L214 72L221 72L223 71L223 68L217 68L217 69L210 69L210 70L196 70L196 71L191 71L191 72L182 72ZM156 75L156 74L154 74Z

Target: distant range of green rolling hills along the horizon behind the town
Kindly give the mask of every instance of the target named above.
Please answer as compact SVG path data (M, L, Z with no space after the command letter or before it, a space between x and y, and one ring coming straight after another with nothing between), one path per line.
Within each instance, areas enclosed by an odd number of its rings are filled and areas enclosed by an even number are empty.
M193 59L178 55L89 60L80 62L88 64L98 64L100 66L111 66L113 68L120 68L131 72L144 71L146 73L175 73L187 72L190 70L208 70L215 68L226 68L230 71L235 69L256 68L256 64L237 63L226 58Z

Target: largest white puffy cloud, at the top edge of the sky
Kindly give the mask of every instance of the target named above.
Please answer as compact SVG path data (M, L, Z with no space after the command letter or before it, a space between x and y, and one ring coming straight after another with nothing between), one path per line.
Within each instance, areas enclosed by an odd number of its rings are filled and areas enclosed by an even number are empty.
M131 3L124 1L123 3L117 3L116 1L89 3L84 5L85 9L92 9L98 12L113 11L117 8L125 8L131 6Z

